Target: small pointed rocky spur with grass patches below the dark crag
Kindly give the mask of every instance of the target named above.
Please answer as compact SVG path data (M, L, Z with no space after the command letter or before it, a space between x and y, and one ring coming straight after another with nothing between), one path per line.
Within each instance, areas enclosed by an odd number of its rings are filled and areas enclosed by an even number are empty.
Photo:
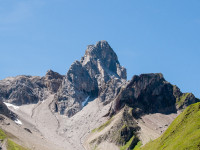
M139 142L138 131L140 130L140 127L132 116L131 110L132 108L126 106L119 114L110 118L100 127L93 129L93 133L96 134L96 136L93 136L94 139L88 141L91 149L98 149L98 146L105 141L115 143L115 145L118 145L119 147L130 141L130 144L127 145L127 149L133 149ZM112 122L115 123L112 124ZM112 126L108 127L111 124ZM105 128L107 128L107 130L105 130ZM97 132L99 134L97 134Z

